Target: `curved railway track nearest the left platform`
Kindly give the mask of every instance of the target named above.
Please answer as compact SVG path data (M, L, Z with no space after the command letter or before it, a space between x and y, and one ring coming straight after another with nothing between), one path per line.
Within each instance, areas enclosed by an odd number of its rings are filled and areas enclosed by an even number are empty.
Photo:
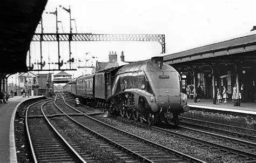
M55 130L43 113L43 106L51 101L33 103L26 111L26 131L33 162L85 162Z

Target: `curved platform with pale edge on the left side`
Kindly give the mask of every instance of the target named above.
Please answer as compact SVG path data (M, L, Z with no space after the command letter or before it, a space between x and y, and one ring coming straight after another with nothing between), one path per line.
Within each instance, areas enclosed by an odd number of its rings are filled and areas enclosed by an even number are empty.
M30 98L16 96L9 98L7 104L0 104L0 162L17 162L14 135L15 113L24 101L35 98L42 98L42 96Z

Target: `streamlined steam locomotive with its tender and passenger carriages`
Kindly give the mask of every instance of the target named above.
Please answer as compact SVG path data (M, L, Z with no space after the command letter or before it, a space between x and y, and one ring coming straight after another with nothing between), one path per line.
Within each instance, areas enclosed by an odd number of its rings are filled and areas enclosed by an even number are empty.
M75 78L64 92L122 117L149 125L157 121L179 123L187 112L187 95L181 93L179 73L163 57L113 67Z

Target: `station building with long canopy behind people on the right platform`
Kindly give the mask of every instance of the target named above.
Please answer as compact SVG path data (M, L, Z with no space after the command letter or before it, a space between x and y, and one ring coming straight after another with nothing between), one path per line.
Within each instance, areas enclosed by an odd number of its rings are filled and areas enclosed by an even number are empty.
M239 37L166 55L164 62L180 73L184 93L188 86L195 88L194 102L197 102L198 85L203 90L203 98L212 98L213 104L217 89L222 93L223 86L227 89L228 99L232 98L234 85L237 85L237 92L245 92L246 101L256 100L255 30Z

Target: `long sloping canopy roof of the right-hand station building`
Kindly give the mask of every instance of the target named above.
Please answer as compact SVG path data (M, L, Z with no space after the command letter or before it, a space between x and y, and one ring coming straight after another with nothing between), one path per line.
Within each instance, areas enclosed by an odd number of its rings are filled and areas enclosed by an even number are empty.
M164 62L172 65L191 62L192 60L214 58L219 56L229 56L237 53L250 52L255 50L256 31L251 31L244 36L239 36L225 41L166 55L164 56ZM252 59L256 60L256 55L253 55Z

